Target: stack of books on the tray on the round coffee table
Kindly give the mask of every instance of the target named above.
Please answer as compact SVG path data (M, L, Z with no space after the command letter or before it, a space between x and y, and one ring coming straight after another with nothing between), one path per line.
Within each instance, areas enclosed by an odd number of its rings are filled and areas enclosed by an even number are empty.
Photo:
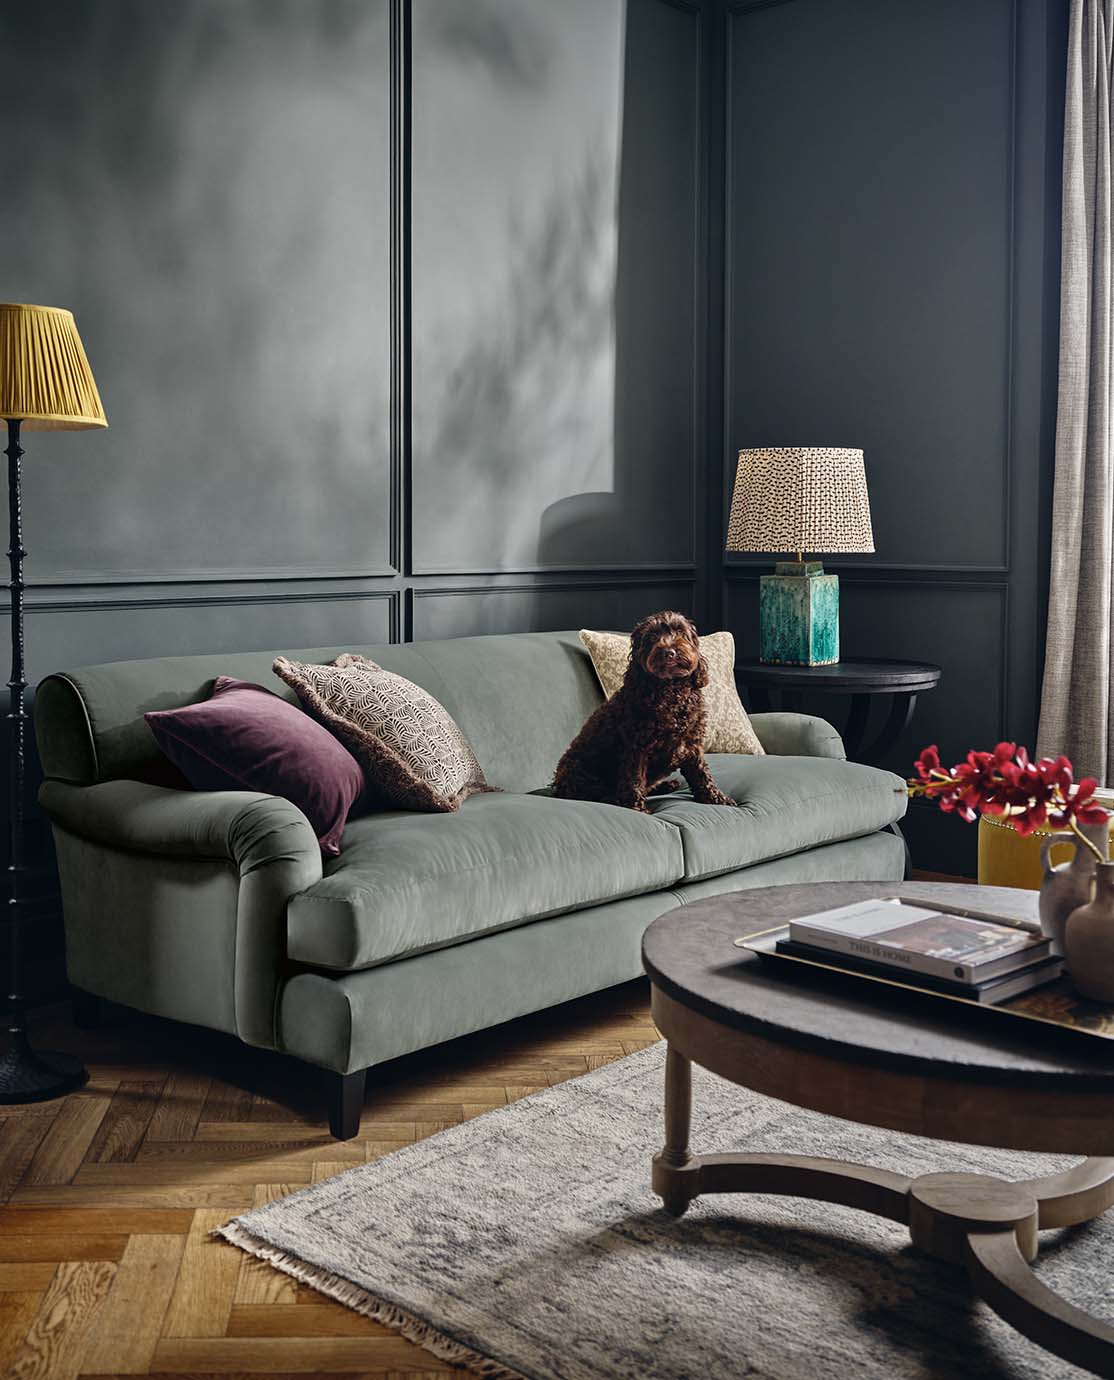
M779 954L994 1005L1053 981L1052 941L1005 920L885 897L790 923Z

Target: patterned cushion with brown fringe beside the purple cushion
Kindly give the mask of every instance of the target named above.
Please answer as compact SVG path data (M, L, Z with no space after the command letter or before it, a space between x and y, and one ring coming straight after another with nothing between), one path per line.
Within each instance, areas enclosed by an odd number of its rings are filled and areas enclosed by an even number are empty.
M327 667L277 657L273 671L356 758L385 805L456 810L489 789L456 719L413 680L355 653Z

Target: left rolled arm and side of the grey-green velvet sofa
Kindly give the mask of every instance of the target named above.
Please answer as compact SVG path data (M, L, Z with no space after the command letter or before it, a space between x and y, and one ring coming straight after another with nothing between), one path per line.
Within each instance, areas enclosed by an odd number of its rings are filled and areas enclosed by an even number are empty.
M301 810L273 795L142 781L44 781L39 799L54 821L70 981L166 1016L196 988L189 1000L214 1013L197 1024L225 1029L228 1016L242 1041L273 1046L287 905L322 875ZM215 985L210 933L225 955ZM144 992L146 965L159 983Z

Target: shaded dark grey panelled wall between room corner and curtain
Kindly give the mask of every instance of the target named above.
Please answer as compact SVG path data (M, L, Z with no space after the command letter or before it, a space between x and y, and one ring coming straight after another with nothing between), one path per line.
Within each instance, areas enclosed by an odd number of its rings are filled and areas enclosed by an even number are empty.
M740 446L866 451L877 555L827 563L843 654L944 668L903 774L926 742L1035 738L1066 11L727 7L723 491ZM744 643L763 567L727 564ZM973 874L973 829L914 806L910 835Z

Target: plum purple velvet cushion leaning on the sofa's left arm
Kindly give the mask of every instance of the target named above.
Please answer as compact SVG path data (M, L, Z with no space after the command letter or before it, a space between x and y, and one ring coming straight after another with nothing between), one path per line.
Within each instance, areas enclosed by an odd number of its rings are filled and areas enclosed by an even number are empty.
M302 709L262 686L218 676L213 696L145 713L155 741L196 791L265 791L291 800L335 857L363 791L352 753Z

